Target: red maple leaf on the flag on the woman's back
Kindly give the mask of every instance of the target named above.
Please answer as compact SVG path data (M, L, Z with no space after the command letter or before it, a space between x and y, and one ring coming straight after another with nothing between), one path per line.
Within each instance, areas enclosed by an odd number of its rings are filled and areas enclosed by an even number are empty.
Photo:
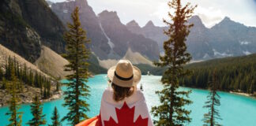
M118 123L110 117L109 120L104 120L105 126L148 126L149 118L142 119L141 115L137 117L137 120L134 122L134 111L135 106L131 109L124 102L121 109L115 108L115 112L118 118Z

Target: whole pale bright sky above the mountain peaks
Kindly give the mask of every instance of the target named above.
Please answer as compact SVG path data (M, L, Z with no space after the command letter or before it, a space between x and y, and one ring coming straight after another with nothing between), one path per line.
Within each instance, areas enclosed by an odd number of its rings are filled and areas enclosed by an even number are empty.
M63 2L66 0L51 0ZM213 27L224 17L236 22L256 27L256 0L182 0L198 5L194 14L198 15L207 28ZM136 20L143 27L152 20L156 26L164 26L163 18L168 19L168 0L88 0L96 14L103 10L116 11L122 24Z

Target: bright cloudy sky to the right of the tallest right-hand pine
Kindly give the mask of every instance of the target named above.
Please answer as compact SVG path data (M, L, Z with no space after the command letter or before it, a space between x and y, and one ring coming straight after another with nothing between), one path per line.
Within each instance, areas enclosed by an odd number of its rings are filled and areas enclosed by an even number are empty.
M206 27L212 27L224 17L230 17L247 26L256 26L256 4L254 0L193 0L198 4L195 14L201 17Z

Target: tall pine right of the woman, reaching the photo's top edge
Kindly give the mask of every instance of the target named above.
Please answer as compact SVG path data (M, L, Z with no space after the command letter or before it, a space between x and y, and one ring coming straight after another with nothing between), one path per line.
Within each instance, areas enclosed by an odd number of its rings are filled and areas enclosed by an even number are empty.
M160 106L152 107L152 114L159 120L154 120L157 126L181 126L190 122L190 110L184 106L192 102L187 99L191 91L178 91L179 79L189 74L183 69L183 65L190 61L191 56L186 52L186 37L190 33L193 24L188 24L187 20L191 17L196 6L182 6L180 0L168 2L170 8L175 9L175 15L169 13L173 22L164 20L168 24L168 31L164 31L170 39L164 42L164 56L160 56L160 62L155 62L156 66L166 67L162 83L164 89L156 91L160 96Z

